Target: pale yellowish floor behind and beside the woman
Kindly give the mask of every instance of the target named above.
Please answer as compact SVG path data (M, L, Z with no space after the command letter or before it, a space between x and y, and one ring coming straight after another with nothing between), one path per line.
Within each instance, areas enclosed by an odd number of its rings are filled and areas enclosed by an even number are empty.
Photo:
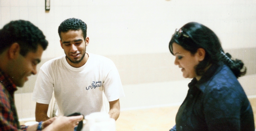
M249 98L256 122L256 98ZM179 106L121 111L116 131L169 131L175 125ZM256 127L256 125L255 125Z

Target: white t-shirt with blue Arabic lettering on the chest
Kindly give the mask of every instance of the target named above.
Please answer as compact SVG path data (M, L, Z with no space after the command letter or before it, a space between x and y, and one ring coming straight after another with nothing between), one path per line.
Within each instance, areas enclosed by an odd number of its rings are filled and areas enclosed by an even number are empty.
M115 64L104 56L87 54L89 58L80 68L70 66L66 55L45 62L38 73L32 100L49 104L54 91L60 114L80 112L85 116L101 111L103 90L108 101L124 97Z

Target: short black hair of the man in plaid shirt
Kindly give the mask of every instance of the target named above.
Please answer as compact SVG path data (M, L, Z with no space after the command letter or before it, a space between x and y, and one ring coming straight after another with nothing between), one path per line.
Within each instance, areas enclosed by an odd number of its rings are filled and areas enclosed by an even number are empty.
M20 54L23 56L29 51L37 51L38 45L44 50L48 46L43 32L25 20L11 21L0 30L0 54L15 42L20 45Z

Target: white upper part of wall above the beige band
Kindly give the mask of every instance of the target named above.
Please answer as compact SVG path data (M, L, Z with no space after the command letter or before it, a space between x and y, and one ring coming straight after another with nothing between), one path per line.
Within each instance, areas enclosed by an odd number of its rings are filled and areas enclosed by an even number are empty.
M255 0L1 0L0 27L10 20L30 20L49 43L43 58L63 54L57 29L67 18L88 25L87 51L100 55L168 52L176 28L196 21L211 28L223 48L256 47Z

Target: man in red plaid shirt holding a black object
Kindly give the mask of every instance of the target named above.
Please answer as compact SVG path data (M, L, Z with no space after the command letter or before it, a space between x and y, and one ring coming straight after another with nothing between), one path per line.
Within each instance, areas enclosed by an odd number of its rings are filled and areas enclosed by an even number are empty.
M58 117L32 126L20 126L14 104L14 92L23 87L47 48L43 32L29 21L16 20L0 30L0 130L73 130L77 117Z

